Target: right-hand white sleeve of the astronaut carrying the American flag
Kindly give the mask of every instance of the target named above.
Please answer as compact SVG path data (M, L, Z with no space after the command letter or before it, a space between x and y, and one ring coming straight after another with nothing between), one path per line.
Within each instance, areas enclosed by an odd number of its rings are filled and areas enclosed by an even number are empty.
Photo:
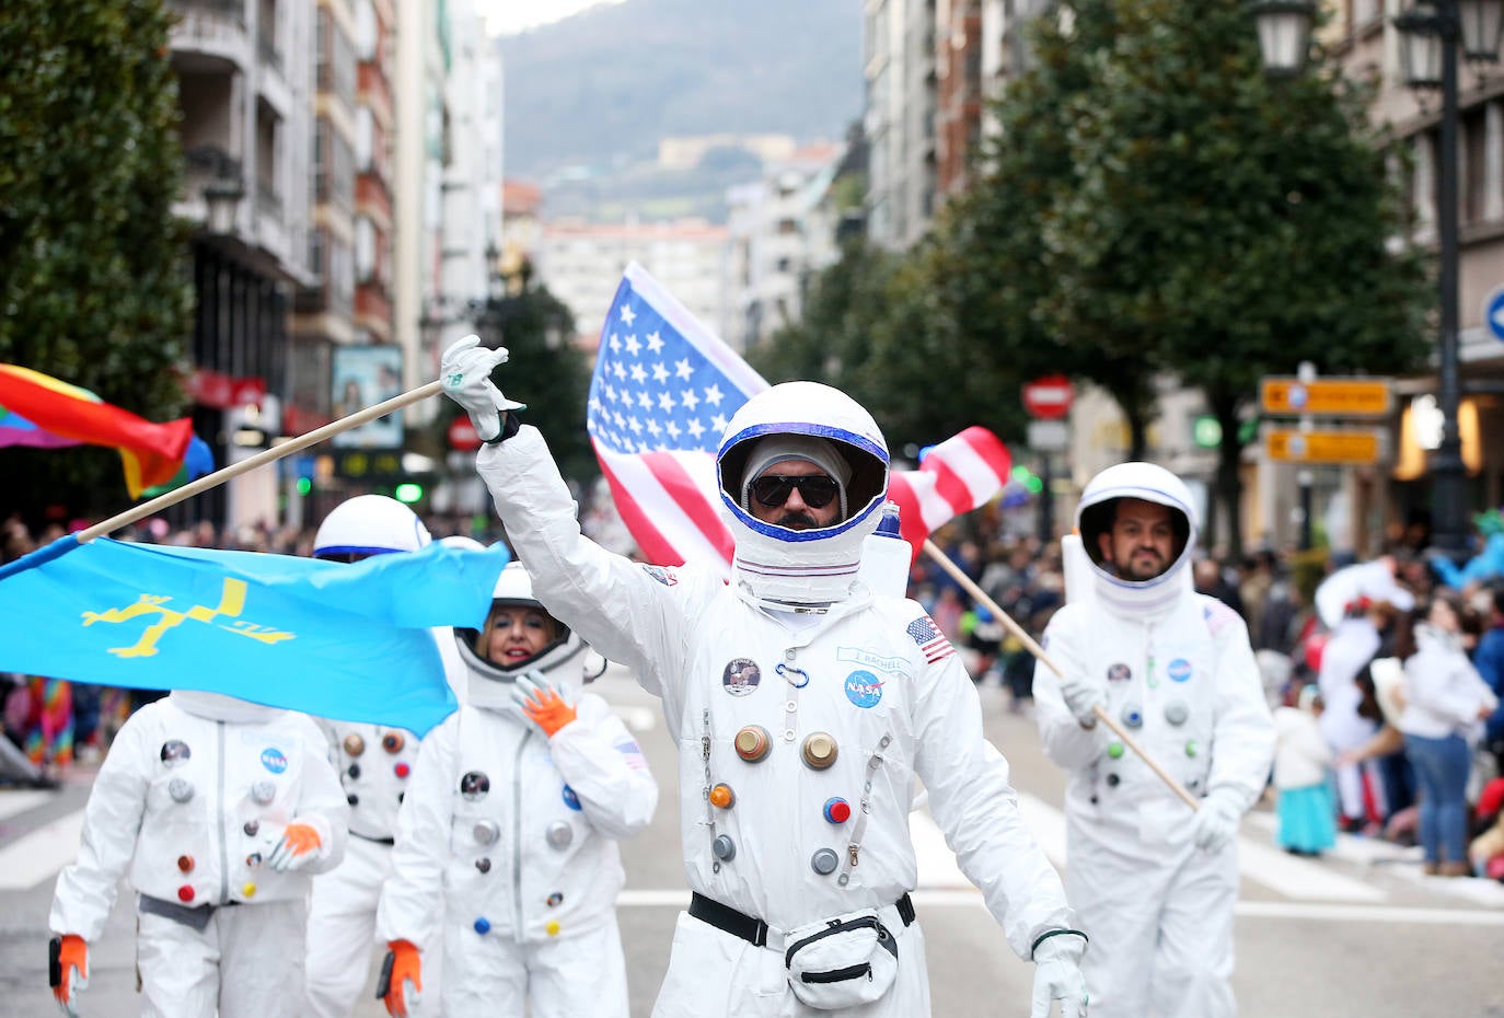
M1236 788L1247 809L1259 798L1274 765L1274 717L1248 645L1248 627L1221 601L1205 600L1212 604L1208 626L1217 645L1217 720L1206 788Z

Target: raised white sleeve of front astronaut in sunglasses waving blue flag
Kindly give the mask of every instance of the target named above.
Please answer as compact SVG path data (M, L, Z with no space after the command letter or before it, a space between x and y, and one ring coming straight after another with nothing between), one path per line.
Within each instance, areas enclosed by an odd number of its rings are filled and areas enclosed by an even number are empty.
M684 615L707 600L696 597L704 577L695 582L674 570L663 573L672 583L654 579L584 537L575 501L535 427L523 426L505 442L486 445L475 466L528 568L534 595L587 644L630 668L650 693L671 693L663 683L681 681L693 630Z

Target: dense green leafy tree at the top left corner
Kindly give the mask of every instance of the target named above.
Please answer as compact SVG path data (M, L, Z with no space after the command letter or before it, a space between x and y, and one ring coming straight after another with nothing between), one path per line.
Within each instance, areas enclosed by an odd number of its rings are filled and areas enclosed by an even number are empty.
M171 17L158 0L0 8L0 361L152 421L180 414L193 293ZM125 499L108 450L5 450L8 502L92 514Z

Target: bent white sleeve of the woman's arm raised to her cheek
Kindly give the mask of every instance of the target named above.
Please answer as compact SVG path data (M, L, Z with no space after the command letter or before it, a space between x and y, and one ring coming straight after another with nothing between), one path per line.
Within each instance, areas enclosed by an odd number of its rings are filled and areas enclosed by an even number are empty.
M597 830L618 841L632 838L657 809L657 782L642 747L599 696L587 693L576 710L575 722L549 740L553 765Z

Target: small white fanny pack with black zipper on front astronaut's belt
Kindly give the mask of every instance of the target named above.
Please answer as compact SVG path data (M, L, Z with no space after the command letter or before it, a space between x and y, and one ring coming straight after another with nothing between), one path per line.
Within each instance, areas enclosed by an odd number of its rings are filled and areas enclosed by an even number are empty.
M821 1010L872 1003L898 974L898 940L875 911L797 926L784 943L788 985L799 1000Z

